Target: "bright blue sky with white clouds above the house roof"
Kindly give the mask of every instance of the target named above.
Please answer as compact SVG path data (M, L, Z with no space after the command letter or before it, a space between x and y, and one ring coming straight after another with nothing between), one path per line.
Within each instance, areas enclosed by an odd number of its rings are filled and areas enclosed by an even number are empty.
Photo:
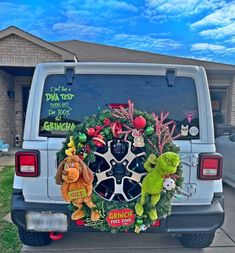
M0 29L235 64L235 1L0 0Z

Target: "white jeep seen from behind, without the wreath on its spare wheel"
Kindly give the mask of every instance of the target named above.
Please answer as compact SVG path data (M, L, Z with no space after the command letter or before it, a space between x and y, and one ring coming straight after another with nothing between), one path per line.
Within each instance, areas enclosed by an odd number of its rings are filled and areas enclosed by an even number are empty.
M181 137L183 187L170 216L146 232L176 234L185 247L208 247L224 221L222 156L216 153L211 101L203 67L130 63L48 63L34 72L25 121L23 148L16 154L12 220L26 245L47 245L50 232L95 231L70 219L71 211L55 184L57 152L66 134L84 117L131 99L146 112L170 113ZM131 150L128 150L131 152ZM112 154L107 155L110 157ZM127 162L134 159L129 155ZM108 158L107 158L108 159ZM128 160L129 159L129 160ZM116 167L115 167L116 168ZM103 173L99 183L116 173L107 201L131 201L126 194L125 164ZM118 170L118 168L116 168ZM94 173L95 174L95 173ZM139 182L137 182L139 183Z

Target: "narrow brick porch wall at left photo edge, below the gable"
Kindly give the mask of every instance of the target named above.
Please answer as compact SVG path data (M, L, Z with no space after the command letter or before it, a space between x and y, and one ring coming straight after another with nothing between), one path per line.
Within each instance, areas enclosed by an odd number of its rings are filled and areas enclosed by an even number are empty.
M11 75L0 70L0 138L13 145L15 136L14 99L7 96L7 91L14 88Z

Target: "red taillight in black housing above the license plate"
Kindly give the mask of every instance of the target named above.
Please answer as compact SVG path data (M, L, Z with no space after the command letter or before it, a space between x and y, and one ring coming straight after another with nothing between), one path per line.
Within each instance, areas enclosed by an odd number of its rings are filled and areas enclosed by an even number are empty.
M39 152L18 151L15 154L16 175L20 177L39 176Z

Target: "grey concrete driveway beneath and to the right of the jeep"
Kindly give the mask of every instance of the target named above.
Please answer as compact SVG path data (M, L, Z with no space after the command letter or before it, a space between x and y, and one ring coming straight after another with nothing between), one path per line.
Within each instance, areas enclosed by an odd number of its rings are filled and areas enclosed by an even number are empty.
M178 240L165 234L68 233L46 247L23 246L24 252L77 253L235 253L235 189L225 185L226 219L216 233L213 245L204 250L185 249Z

